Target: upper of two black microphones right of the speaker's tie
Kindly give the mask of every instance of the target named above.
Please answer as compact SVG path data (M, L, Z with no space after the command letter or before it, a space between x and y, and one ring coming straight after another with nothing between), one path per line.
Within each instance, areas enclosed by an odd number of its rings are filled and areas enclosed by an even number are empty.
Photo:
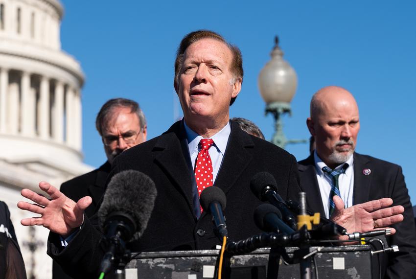
M269 201L277 207L282 214L283 221L293 230L298 229L295 215L287 208L285 201L277 194L277 183L272 174L267 171L255 174L250 181L250 188L254 195L261 201Z

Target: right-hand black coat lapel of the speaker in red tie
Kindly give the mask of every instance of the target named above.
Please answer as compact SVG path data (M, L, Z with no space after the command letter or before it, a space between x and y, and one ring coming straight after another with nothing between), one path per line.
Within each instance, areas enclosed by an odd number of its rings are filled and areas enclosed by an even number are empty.
M250 136L237 128L231 121L230 138L214 186L220 187L227 194L253 159L247 150L247 148L253 147L254 142Z

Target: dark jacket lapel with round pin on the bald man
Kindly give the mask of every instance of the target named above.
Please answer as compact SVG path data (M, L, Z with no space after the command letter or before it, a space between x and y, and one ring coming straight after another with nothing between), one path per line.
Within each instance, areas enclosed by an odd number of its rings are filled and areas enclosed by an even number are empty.
M372 173L365 174L370 170L370 161L358 153L354 153L354 205L369 201ZM368 172L366 172L368 173Z

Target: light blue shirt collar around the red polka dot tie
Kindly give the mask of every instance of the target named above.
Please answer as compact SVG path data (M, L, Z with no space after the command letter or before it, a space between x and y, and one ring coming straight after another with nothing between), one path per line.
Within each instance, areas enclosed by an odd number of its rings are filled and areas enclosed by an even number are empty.
M204 139L202 136L198 135L196 132L194 132L191 128L189 128L184 119L184 126L185 126L185 133L186 133L186 139L188 140L188 147L189 147L189 153L192 154L192 150L195 150L198 148L199 142ZM231 134L231 126L230 122L227 122L227 124L215 135L213 135L210 139L214 141L214 146L217 147L219 152L224 156L225 149L227 147L228 138Z

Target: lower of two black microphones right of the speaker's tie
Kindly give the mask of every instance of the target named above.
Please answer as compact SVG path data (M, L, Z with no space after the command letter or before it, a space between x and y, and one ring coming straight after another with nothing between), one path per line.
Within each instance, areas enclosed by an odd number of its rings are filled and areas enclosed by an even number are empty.
M287 234L295 232L281 220L281 217L280 210L271 204L261 204L254 210L254 223L260 230Z

